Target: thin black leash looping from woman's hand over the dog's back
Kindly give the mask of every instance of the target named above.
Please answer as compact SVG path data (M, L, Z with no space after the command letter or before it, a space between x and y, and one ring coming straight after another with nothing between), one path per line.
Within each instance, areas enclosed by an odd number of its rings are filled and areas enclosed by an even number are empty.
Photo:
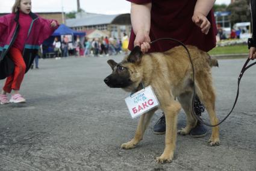
M193 64L192 58L191 58L190 53L189 53L189 49L187 49L187 47L186 47L186 45L184 45L184 43L180 42L179 40L172 39L172 38L161 38L161 39L157 39L157 40L154 40L154 41L150 42L149 44L153 44L153 43L155 43L155 42L157 42L157 41L159 41L159 40L171 40L171 41L173 41L173 42L180 43L180 45L183 46L183 47L186 49L187 54L189 55L189 60L190 60L190 63L191 63L191 65L192 65L192 70L193 70L193 99L192 99L192 106L191 106L191 107L192 107L192 114L193 114L193 116L195 116L196 119L198 119L198 120L199 120L201 123L203 123L204 125L212 126L212 127L213 127L213 126L218 126L218 125L220 125L220 123L224 122L224 120L226 120L226 118L228 118L228 116L232 113L232 111L234 110L234 107L236 106L237 99L238 99L238 97L239 97L239 85L240 85L240 81L241 81L241 79L242 79L243 73L245 73L245 71L246 71L247 69L249 69L249 67L254 66L254 65L256 64L256 62L254 62L254 63L252 63L252 64L249 64L249 66L247 66L247 64L249 63L249 61L250 61L251 59L248 58L248 59L246 60L245 64L244 64L243 67L242 67L242 70L241 70L241 72L240 72L240 75L239 75L239 78L238 78L238 81L237 81L237 95L236 95L236 99L235 99L235 102L234 102L234 104L233 104L233 107L232 107L231 111L229 111L229 113L226 115L226 117L225 117L223 120L221 120L219 123L217 123L216 125L211 125L210 123L204 122L204 120L202 120L201 117L199 117L197 114L195 114L195 111L194 111L194 108L193 108L194 102L195 102L195 98L196 98L196 93L195 93L195 92L196 92L196 90L195 90L195 69L194 69L194 64Z

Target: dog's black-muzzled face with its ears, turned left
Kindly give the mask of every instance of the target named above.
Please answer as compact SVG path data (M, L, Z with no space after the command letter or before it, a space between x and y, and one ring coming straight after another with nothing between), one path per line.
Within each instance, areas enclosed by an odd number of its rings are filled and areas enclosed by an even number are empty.
M136 46L128 57L120 63L116 63L114 60L108 60L107 63L110 65L113 72L108 75L104 82L111 88L123 88L130 87L134 84L131 79L133 77L133 69L131 64L136 64L140 62L142 57L142 51L140 51L139 46Z

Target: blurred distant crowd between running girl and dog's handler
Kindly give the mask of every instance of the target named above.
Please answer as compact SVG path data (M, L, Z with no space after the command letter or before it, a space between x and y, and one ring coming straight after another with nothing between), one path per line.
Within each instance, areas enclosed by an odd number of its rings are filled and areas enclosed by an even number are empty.
M81 41L83 40L83 41ZM58 37L55 37L52 43L52 49L54 49L54 57L67 57L69 55L75 55L77 57L99 57L102 55L117 55L120 52L128 52L128 36L123 33L122 39L116 37L101 37L89 39L88 37L76 37L75 42L70 42L66 36L61 41ZM71 52L72 51L72 52Z

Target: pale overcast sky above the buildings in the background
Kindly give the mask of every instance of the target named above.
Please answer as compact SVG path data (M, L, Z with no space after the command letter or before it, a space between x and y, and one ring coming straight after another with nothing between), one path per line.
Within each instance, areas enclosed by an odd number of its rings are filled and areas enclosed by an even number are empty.
M0 13L10 13L15 0L0 0ZM64 12L76 10L76 0L62 0ZM182 1L182 0L181 0ZM216 4L229 4L231 0L216 0ZM61 0L32 0L33 12L61 11ZM90 13L120 14L130 12L130 2L125 0L80 0L80 7Z

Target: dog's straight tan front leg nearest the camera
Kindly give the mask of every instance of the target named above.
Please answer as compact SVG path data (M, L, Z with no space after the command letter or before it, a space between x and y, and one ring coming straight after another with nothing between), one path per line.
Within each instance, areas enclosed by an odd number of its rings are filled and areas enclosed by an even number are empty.
M157 157L158 163L170 163L173 159L176 146L177 119L178 113L181 110L180 103L174 101L174 99L166 101L164 104L161 104L161 109L166 117L165 148L163 154Z

